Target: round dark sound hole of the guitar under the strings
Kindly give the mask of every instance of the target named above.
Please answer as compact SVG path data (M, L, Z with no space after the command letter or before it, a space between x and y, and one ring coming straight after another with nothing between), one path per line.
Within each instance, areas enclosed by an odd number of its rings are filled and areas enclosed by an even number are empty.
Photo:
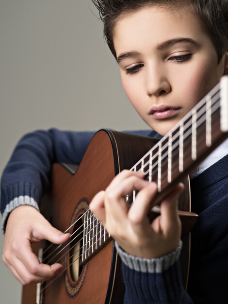
M80 267L83 236L83 222L81 217L74 225L72 234L69 250L69 270L72 281L76 282L82 271L82 267Z

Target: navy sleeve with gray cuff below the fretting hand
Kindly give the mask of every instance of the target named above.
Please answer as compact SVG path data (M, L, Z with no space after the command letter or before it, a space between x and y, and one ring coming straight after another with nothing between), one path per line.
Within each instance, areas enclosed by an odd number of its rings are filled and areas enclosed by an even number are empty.
M146 259L125 253L115 242L122 260L124 304L192 304L185 292L179 263L182 243L160 258Z

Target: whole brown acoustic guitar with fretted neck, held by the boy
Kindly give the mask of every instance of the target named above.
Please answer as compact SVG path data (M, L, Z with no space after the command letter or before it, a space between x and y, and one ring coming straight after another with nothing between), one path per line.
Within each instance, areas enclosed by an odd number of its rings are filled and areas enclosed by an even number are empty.
M183 250L181 267L187 286L190 231L197 219L191 212L188 173L228 137L228 77L223 77L161 140L100 130L92 138L80 166L54 164L46 214L57 229L70 232L63 245L42 244L43 263L64 265L58 276L23 287L22 304L121 304L124 283L114 241L90 212L89 203L122 169L144 171L158 185L148 214L159 214L159 203L180 181L179 199ZM136 191L126 200L133 202ZM47 198L46 198L47 200ZM37 244L36 244L37 246ZM37 250L37 248L34 248Z

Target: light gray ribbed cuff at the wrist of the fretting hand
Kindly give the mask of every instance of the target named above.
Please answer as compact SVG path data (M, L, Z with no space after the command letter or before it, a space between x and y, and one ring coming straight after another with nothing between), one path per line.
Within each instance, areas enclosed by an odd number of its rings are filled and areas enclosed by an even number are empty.
M115 248L122 262L131 270L148 273L161 273L164 270L167 270L170 266L174 265L174 263L179 259L182 248L182 241L179 240L178 247L171 253L153 259L130 255L123 251L117 242L115 242Z

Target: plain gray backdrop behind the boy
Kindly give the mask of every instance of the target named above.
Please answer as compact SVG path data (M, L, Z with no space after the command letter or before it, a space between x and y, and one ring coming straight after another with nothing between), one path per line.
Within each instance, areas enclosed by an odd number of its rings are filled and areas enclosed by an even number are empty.
M0 172L36 129L147 129L94 15L90 0L0 0ZM21 286L2 261L0 282L0 303L19 304Z

